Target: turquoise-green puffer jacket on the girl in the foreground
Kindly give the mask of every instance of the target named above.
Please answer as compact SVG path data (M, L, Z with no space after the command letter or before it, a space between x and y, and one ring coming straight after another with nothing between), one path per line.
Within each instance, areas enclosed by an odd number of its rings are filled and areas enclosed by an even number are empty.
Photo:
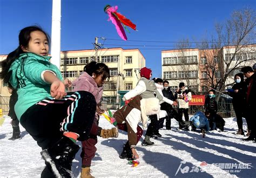
M22 53L11 64L9 82L18 90L18 101L15 105L18 120L21 119L22 114L30 106L44 98L51 97L51 85L41 77L43 71L52 71L60 80L63 80L57 66L50 63L50 58L49 56L38 56L35 53L27 52Z

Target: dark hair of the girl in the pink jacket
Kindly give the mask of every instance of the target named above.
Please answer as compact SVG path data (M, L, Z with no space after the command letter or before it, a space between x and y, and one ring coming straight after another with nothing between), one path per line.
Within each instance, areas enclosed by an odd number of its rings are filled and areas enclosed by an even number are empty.
M104 63L96 63L96 61L91 61L91 63L84 66L84 71L87 74L89 74L89 76L92 76L92 73L95 73L96 76L98 74L103 74L102 76L103 80L105 80L106 78L107 80L109 80L110 78L109 67L107 67L107 65Z

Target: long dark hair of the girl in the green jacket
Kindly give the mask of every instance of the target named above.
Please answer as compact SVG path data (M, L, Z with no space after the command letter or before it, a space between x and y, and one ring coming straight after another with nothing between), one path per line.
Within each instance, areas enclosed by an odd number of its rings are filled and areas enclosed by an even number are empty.
M15 59L19 57L20 54L25 53L22 50L22 47L28 47L31 36L30 33L33 31L41 31L46 36L49 46L50 46L50 37L49 35L42 30L39 26L28 26L22 29L19 32L19 46L16 50L10 52L6 59L0 62L0 67L2 67L2 71L0 72L0 78L3 79L3 83L6 85L10 79L11 73L8 73L11 64L14 62Z

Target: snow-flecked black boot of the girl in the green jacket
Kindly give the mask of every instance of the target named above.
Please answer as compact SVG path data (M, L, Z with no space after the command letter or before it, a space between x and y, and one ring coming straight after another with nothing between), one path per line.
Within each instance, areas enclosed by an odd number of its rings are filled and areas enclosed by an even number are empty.
M63 136L50 148L42 150L41 155L56 177L73 177L72 161L79 148L73 141Z

